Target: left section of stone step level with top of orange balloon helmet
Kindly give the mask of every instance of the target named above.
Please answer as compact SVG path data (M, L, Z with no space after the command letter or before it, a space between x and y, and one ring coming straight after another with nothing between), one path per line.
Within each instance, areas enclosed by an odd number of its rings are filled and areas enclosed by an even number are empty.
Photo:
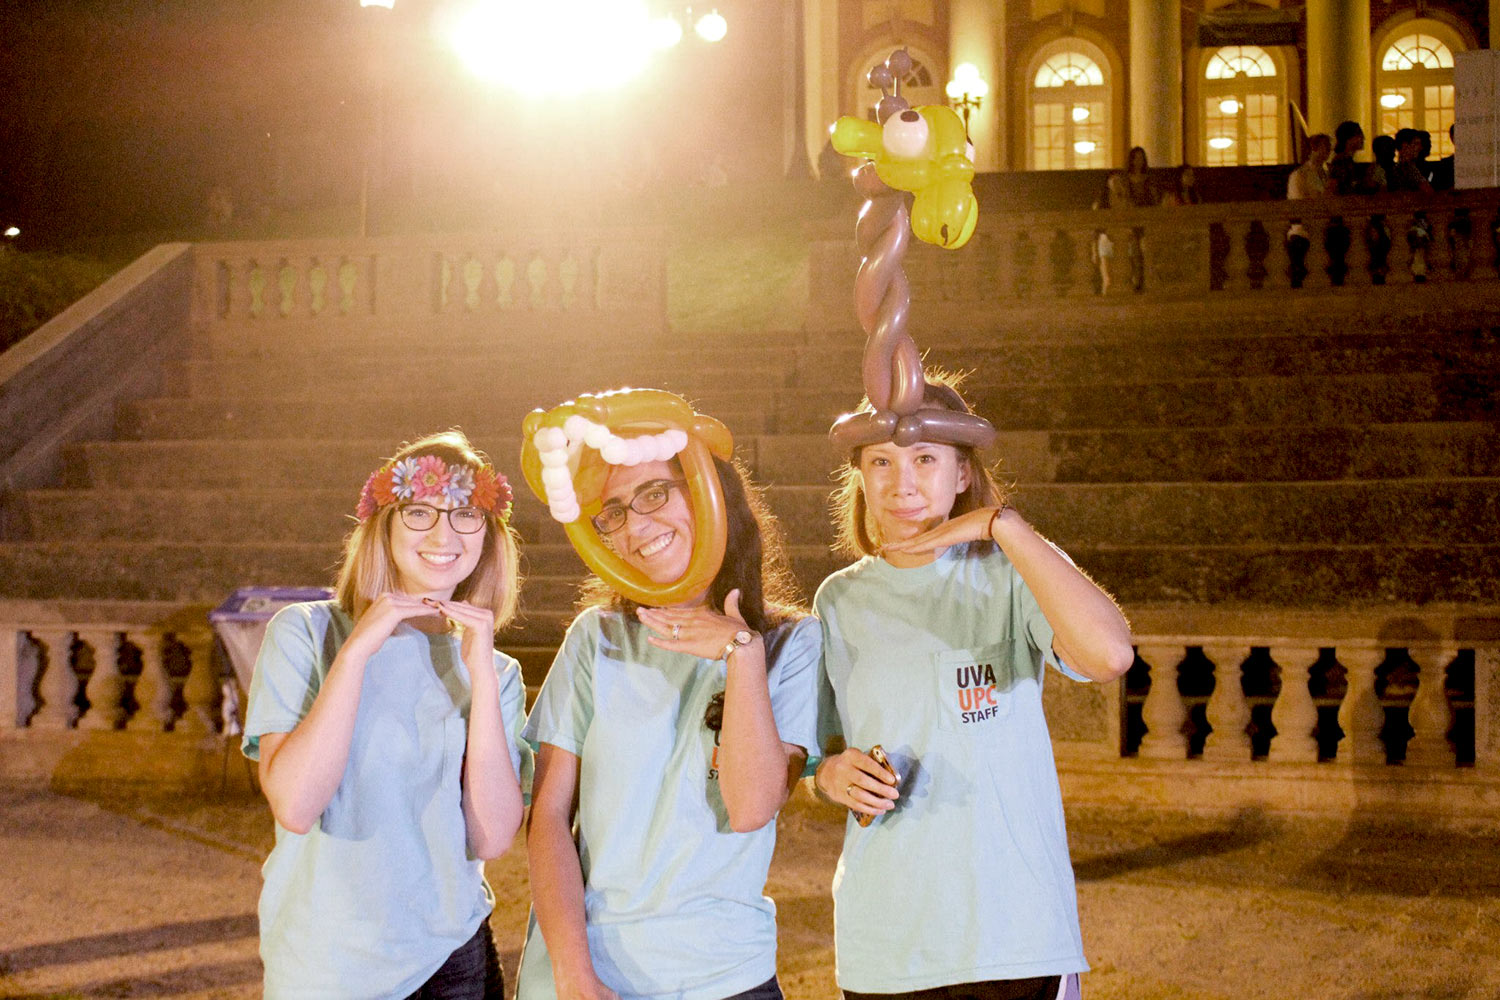
M726 394L726 396L732 396ZM747 408L704 406L735 435L766 433L774 414L765 394L746 394ZM442 427L464 427L472 438L516 435L530 402L506 396L422 396L399 402L380 399L147 399L120 406L117 433L126 439L248 439L248 438L382 438L402 441ZM723 402L723 399L717 400Z

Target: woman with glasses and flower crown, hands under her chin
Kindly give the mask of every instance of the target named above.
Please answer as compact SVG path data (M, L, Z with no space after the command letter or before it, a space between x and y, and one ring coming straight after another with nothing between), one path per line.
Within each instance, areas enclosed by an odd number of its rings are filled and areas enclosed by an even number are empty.
M267 627L243 744L276 819L267 997L502 996L482 862L522 814L510 499L459 432L404 447L364 483L336 600Z

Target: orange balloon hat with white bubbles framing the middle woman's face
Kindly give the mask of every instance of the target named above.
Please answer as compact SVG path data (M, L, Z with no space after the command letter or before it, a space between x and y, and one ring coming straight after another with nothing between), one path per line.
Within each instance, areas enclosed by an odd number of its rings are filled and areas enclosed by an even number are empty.
M734 438L681 396L658 388L585 393L522 423L520 471L573 549L615 592L652 607L693 600L708 589L724 561L724 493L714 457L729 460ZM612 465L676 459L693 502L693 555L682 577L656 583L604 544L590 517L603 507Z

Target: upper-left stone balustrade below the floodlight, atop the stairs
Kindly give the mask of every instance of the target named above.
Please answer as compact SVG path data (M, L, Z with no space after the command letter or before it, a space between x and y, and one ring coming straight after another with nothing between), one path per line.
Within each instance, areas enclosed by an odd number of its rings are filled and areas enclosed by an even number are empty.
M194 319L210 325L570 313L634 333L666 327L666 244L654 229L210 243L194 259Z

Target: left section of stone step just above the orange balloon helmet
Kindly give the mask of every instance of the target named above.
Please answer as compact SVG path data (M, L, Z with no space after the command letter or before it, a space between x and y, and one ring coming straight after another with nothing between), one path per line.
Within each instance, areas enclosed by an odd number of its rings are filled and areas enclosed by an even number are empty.
M602 376L608 381L600 382ZM663 387L688 399L723 391L728 385L740 391L771 391L786 384L789 366L780 352L678 351L672 355L610 358L606 370L597 357L588 354L537 352L518 357L510 352L444 354L441 366L426 366L418 372L412 366L392 364L390 355L384 354L314 360L192 358L166 364L164 378L166 396L315 399L326 396L330 387L339 387L346 394L404 397L420 381L420 391L446 397L462 397L488 385L525 385L538 400L536 405L552 405L540 400L561 402L582 391L620 385Z

